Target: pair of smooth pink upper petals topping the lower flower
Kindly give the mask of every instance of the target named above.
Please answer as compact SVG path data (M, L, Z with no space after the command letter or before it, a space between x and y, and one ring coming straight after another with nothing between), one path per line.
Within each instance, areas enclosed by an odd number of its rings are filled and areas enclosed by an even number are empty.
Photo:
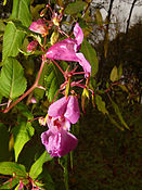
M63 97L49 106L48 115L51 117L63 116L72 124L77 123L80 116L77 97Z

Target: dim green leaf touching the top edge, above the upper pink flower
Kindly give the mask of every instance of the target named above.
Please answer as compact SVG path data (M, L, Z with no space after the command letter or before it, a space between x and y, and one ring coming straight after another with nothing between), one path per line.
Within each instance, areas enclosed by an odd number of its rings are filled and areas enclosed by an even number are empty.
M66 14L77 14L83 11L85 5L86 5L86 2L83 1L76 1L73 3L68 3L67 8L65 9L65 13Z

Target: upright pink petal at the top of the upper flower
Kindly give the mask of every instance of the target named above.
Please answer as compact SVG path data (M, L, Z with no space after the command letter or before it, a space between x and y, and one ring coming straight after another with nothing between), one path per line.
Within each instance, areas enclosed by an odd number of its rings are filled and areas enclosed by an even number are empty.
M81 45L82 40L83 40L83 33L79 26L78 23L76 23L75 27L74 27L74 36L75 36L75 39L77 41L77 45Z

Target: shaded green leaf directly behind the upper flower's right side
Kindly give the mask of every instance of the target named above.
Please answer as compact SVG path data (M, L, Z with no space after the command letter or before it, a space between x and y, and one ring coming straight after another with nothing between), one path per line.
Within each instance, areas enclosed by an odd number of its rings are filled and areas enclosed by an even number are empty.
M98 61L95 50L86 39L83 39L82 41L81 52L83 53L83 55L86 56L86 59L89 61L91 65L91 76L93 77L98 73L99 61Z

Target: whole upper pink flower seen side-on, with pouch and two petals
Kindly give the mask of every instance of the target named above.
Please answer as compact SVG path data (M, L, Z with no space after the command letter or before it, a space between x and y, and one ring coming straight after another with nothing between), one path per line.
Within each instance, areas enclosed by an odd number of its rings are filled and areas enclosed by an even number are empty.
M87 76L87 73L91 75L90 63L86 60L82 53L77 53L83 40L83 33L78 23L74 27L74 36L75 39L67 38L50 47L47 51L47 58L51 60L79 62L86 72L85 76Z

